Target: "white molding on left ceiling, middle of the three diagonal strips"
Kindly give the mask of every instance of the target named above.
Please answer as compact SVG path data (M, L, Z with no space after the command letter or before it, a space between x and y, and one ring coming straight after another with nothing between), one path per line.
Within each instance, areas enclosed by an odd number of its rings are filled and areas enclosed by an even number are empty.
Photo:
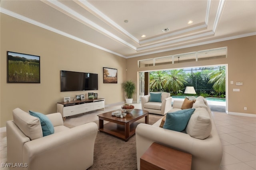
M100 25L94 23L93 21L89 20L88 18L82 16L81 14L79 14L78 12L75 12L74 10L72 10L71 8L68 8L67 6L65 6L64 4L58 2L58 1L51 1L51 0L44 0L42 1L45 4L51 6L52 8L55 8L56 10L74 18L75 20L91 27L92 29L98 31L99 33L104 34L107 37L110 37L112 39L114 39L115 41L118 41L120 43L122 43L123 45L126 45L127 47L133 49L134 51L136 51L136 47L134 47L133 45L131 45L130 43L127 43L126 41L124 41L123 39L121 39L120 37L114 35L113 33L111 33L110 31L104 29L103 27L101 27Z

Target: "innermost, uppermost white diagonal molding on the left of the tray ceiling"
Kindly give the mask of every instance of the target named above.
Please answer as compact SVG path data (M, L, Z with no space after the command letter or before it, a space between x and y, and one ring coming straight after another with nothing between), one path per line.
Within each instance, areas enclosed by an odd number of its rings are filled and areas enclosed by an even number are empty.
M111 20L110 18L108 18L108 16L106 16L105 14L103 14L100 10L98 10L97 8L95 8L92 4L90 4L87 0L78 0L78 1L74 1L76 2L78 5L80 5L82 8L86 9L88 12L90 12L91 14L93 14L94 16L96 16L97 18L99 18L100 20L108 23L108 25L110 25L111 27L114 27L114 29L117 29L118 31L120 31L122 34L126 35L128 38L130 38L132 41L135 41L136 43L140 43L140 41L134 37L133 35L131 35L129 32L127 32L125 29L123 29L122 27L120 27L120 25L118 25L117 23L115 23L113 20Z

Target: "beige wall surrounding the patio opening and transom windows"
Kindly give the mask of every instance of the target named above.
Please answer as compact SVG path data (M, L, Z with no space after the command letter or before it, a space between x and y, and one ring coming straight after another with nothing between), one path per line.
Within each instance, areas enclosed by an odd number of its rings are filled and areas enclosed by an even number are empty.
M213 49L218 47L228 47L228 54L226 59L214 59L208 61L195 61L189 63L177 63L138 68L138 60L188 53L205 49ZM127 79L131 79L134 80L134 82L137 82L137 73L139 71L185 68L193 66L209 66L215 64L228 65L228 112L256 114L256 91L254 90L256 84L256 36L200 45L185 49L178 49L154 55L130 58L127 59ZM230 81L234 81L234 84L230 84ZM243 82L243 86L236 86L235 82ZM240 88L240 92L233 92L233 88ZM247 110L244 110L244 107L247 107Z

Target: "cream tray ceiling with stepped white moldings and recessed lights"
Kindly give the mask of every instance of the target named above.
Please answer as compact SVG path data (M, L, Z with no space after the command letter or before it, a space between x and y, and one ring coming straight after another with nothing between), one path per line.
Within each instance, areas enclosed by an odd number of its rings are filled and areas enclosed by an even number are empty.
M0 3L0 12L4 14L124 58L256 35L254 0L1 0Z

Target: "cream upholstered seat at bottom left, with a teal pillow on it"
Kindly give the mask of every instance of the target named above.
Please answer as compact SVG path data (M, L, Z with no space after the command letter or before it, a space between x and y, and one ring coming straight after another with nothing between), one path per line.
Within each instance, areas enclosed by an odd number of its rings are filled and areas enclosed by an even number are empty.
M60 113L46 116L54 133L43 137L38 117L19 108L13 110L14 120L6 122L7 162L13 165L10 169L86 170L92 166L97 124L68 128Z

